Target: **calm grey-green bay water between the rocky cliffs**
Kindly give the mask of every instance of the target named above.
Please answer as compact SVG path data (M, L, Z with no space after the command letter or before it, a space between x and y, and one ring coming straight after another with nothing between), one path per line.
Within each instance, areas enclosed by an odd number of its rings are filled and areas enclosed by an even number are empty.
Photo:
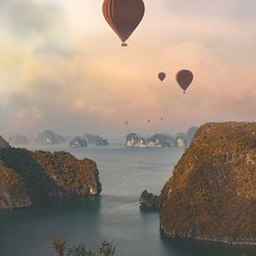
M88 148L65 151L97 162L103 188L101 196L52 203L37 209L0 212L0 256L54 255L49 248L48 235L60 236L72 245L85 241L92 249L102 239L107 239L115 244L117 255L125 256L256 255L255 248L166 239L159 234L158 213L140 210L141 192L148 189L159 194L182 150Z

